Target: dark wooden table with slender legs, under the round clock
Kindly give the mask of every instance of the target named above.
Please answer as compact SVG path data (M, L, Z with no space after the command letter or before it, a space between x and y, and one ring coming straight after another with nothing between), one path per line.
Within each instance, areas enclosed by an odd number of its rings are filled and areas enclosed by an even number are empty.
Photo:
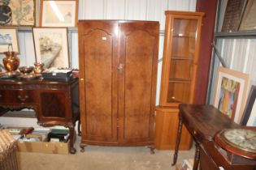
M220 167L225 170L256 169L255 159L232 154L215 143L214 137L219 130L241 128L241 125L211 105L180 104L179 109L179 128L172 165L176 164L182 125L185 125L196 142L193 170L197 169L199 162L202 170L218 170Z

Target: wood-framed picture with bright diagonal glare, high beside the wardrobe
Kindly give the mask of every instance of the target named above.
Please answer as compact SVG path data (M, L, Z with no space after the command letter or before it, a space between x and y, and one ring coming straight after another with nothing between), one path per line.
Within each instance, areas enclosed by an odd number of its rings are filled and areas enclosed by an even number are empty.
M77 0L41 0L42 27L76 27Z

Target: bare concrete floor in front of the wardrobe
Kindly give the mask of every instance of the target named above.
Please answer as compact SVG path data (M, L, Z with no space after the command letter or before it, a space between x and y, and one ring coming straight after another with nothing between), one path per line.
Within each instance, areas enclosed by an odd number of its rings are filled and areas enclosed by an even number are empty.
M80 137L76 138L76 155L54 155L41 153L18 153L20 170L171 170L173 151L155 151L150 154L147 147L85 147L80 152ZM180 151L182 159L193 158L190 151Z

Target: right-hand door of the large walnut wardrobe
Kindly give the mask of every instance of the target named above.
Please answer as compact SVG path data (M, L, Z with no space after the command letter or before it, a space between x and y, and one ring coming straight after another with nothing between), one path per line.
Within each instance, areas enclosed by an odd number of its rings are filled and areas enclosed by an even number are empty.
M153 143L158 22L120 23L119 142Z

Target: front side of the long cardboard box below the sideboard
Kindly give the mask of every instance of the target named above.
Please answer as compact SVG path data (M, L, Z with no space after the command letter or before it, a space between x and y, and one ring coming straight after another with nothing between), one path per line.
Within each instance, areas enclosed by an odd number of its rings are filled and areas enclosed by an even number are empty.
M18 151L68 154L68 142L18 142Z

